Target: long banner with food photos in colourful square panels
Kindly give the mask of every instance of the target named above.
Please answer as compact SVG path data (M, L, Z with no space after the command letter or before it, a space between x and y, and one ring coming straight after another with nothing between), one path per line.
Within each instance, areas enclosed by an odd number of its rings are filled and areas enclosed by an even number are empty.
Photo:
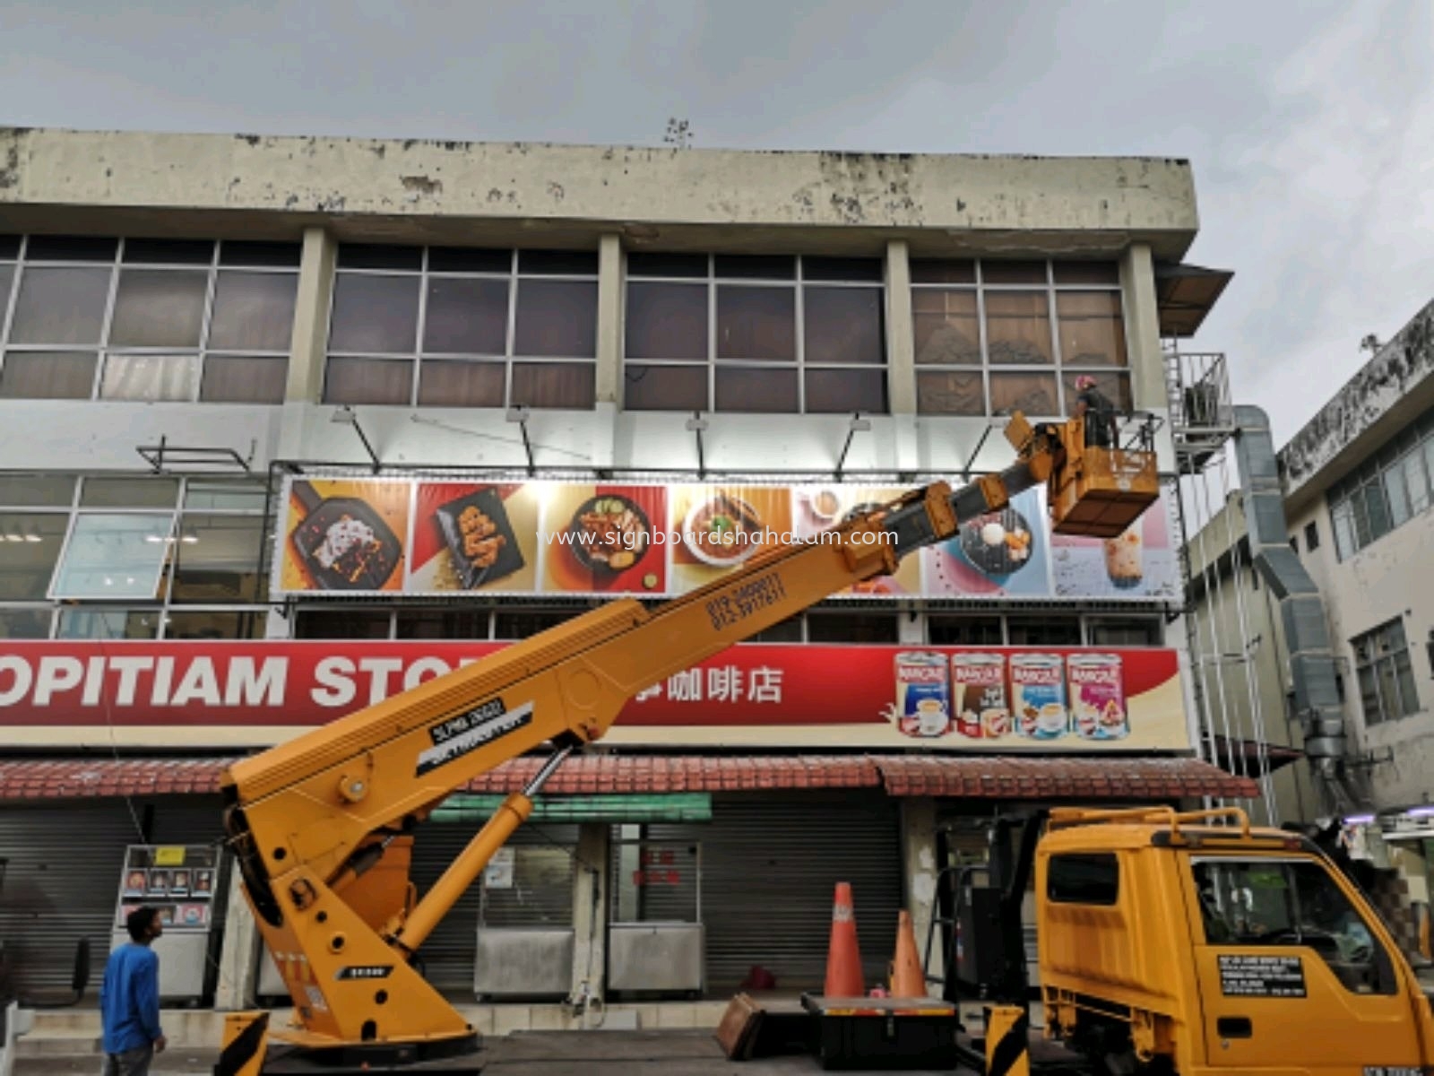
M677 597L908 491L285 478L271 593ZM833 597L1173 600L1170 518L1163 492L1120 538L1053 535L1031 489Z

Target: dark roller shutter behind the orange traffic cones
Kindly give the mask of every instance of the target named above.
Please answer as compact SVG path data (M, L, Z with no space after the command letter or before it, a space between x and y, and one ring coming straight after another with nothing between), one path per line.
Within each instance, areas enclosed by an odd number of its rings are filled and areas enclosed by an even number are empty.
M711 822L652 823L642 835L701 844L710 996L731 994L754 964L779 990L820 990L836 882L852 885L866 981L885 981L902 901L896 801L858 791L714 796ZM652 891L648 918L668 911L664 901L685 902Z

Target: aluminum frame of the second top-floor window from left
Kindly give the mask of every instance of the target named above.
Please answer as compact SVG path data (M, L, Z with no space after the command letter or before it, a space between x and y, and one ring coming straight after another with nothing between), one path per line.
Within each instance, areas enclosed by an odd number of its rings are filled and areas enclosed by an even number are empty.
M340 244L340 251L343 244ZM447 250L447 248L445 248ZM488 248L482 248L488 250ZM503 250L502 247L492 250ZM324 383L320 399L324 405L337 405L340 402L330 397L330 380L328 380L328 363L333 359L366 359L366 360L387 360L387 362L409 362L412 363L410 377L409 377L409 399L403 403L386 403L373 406L391 406L391 407L443 407L443 406L469 406L469 405L432 405L419 403L419 386L423 377L423 363L503 363L503 402L502 407L516 406L513 403L513 366L516 363L538 363L538 364L552 364L552 366L571 366L574 363L585 363L592 369L594 374L594 402L581 410L595 410L597 409L597 369L598 369L598 350L601 349L601 341L594 337L594 353L591 356L529 356L518 354L515 346L518 341L518 291L523 281L552 281L552 283L581 283L592 284L598 291L594 294L594 320L601 314L602 296L601 296L601 267L595 268L591 274L575 274L575 273L533 273L523 271L521 268L521 254L523 250L513 247L506 253L509 255L508 270L505 273L485 271L485 270L433 270L430 268L430 253L433 247L423 244L419 247L420 261L419 268L367 268L367 267L344 267L338 264L338 258L334 261L333 273L333 287L328 288L328 307L324 311ZM529 254L549 253L549 248L531 248ZM569 253L569 251L562 251ZM595 251L571 251L581 254L595 254ZM414 339L412 351L344 351L334 350L330 346L334 333L334 303L338 297L338 278L341 275L363 275L363 277L403 277L419 280L419 310L417 320L414 324ZM426 351L423 347L423 339L427 331L427 310L429 310L429 281L430 280L500 280L508 284L508 324L505 327L503 340L503 354L486 354L482 351ZM476 405L485 406L485 405ZM568 407L539 407L538 405L526 405L535 410L571 410Z

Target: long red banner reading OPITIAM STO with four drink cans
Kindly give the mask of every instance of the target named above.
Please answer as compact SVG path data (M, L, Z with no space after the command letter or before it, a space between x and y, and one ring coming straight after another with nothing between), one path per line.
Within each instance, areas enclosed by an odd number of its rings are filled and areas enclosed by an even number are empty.
M43 730L26 743L95 739L65 729L277 742L503 646L11 643L0 654L0 725ZM607 740L1170 750L1189 746L1189 733L1173 650L741 644L641 692Z

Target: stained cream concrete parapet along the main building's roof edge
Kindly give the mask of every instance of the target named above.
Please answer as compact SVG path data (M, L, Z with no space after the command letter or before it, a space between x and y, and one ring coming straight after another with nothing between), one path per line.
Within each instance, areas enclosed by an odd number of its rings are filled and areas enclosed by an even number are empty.
M337 217L361 232L364 218L386 218L414 238L457 220L617 222L635 240L683 225L919 230L926 247L952 245L949 228L987 250L1050 232L1057 248L1147 241L1162 258L1179 258L1197 228L1190 165L1167 158L0 129L0 222L37 227L53 207L162 209L169 228L270 214L274 228Z

